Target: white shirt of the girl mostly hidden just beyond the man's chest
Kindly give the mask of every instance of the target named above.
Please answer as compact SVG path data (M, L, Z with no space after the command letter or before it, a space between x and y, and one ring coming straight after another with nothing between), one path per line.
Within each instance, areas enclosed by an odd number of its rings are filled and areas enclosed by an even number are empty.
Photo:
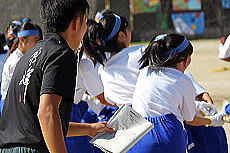
M78 63L74 103L78 104L86 91L91 97L95 97L103 93L104 88L101 78L98 75L98 66L94 66L92 60L83 55L81 61Z

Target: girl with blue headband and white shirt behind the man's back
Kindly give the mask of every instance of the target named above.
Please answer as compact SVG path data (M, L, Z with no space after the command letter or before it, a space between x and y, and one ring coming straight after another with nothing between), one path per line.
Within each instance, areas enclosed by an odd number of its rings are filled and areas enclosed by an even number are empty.
M21 57L41 39L37 25L25 22L18 32L18 48L6 60L2 72L1 93L5 100L14 69Z

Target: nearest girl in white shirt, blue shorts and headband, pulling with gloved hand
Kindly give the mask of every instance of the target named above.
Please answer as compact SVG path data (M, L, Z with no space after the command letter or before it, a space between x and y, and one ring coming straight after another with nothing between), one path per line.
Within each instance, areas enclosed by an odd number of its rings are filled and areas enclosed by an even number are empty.
M191 62L193 47L182 35L153 39L140 62L141 71L133 94L133 108L154 124L129 152L185 153L182 122L221 126L221 115L196 116L195 88L183 73Z

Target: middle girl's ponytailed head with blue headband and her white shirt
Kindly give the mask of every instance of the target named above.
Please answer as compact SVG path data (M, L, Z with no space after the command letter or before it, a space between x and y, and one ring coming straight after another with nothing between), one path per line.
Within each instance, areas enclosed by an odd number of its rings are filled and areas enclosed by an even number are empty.
M104 16L89 27L89 45L83 46L100 63L98 73L104 86L104 97L111 104L131 105L144 46L129 47L131 32L125 18Z

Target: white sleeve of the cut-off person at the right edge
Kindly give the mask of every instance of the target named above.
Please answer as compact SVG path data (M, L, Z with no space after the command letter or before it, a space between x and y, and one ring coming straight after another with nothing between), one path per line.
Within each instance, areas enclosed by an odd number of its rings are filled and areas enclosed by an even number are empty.
M230 57L230 35L227 37L224 44L219 46L219 59L225 59Z

